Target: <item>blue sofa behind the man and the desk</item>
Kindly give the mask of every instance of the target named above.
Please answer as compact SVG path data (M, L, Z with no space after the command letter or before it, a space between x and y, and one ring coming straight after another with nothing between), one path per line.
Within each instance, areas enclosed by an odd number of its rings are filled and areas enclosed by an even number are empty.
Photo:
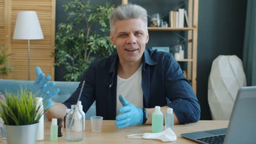
M20 87L31 87L34 81L21 81L21 80L2 80L0 79L0 92L3 94L5 90L8 93L20 91ZM79 82L66 82L66 81L55 81L56 88L60 89L60 93L53 97L55 102L64 102L68 99L71 94L77 89ZM91 105L90 109L85 114L85 119L90 119L91 116L96 116L95 102Z

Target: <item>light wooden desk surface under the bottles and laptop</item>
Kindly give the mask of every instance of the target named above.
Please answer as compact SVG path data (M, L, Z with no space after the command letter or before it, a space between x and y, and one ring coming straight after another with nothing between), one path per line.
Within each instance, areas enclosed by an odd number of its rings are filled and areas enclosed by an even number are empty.
M50 141L51 123L50 121L45 121L44 141L37 141L36 143L163 143L159 140L129 139L127 137L127 135L130 134L152 133L151 125L136 125L125 129L117 129L114 122L115 121L103 121L102 131L92 132L90 121L86 121L84 139L79 142L68 142L65 140L65 129L63 130L63 136L59 137L58 141ZM228 127L228 123L229 121L199 121L197 123L174 125L177 140L172 143L194 143L193 141L181 137L181 134L199 130L225 128Z

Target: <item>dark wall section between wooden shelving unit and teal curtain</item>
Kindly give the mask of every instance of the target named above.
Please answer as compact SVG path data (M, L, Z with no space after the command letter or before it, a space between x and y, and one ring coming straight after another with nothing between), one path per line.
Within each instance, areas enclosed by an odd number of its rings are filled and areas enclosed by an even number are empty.
M199 0L197 97L201 119L211 119L207 101L208 77L219 55L242 59L247 1Z

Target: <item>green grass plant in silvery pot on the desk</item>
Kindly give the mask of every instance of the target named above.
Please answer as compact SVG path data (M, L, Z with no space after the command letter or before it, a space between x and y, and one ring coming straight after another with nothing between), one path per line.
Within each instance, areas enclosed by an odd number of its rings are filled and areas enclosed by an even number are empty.
M0 117L4 121L7 143L36 143L38 122L44 111L37 105L36 95L22 89L5 92L6 100L0 101Z

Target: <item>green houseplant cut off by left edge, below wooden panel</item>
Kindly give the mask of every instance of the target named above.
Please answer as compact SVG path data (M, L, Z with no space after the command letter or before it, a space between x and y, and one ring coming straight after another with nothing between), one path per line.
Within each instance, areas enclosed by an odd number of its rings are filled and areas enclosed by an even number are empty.
M0 76L7 75L9 71L13 70L10 65L5 65L10 53L6 53L7 49L0 45Z

